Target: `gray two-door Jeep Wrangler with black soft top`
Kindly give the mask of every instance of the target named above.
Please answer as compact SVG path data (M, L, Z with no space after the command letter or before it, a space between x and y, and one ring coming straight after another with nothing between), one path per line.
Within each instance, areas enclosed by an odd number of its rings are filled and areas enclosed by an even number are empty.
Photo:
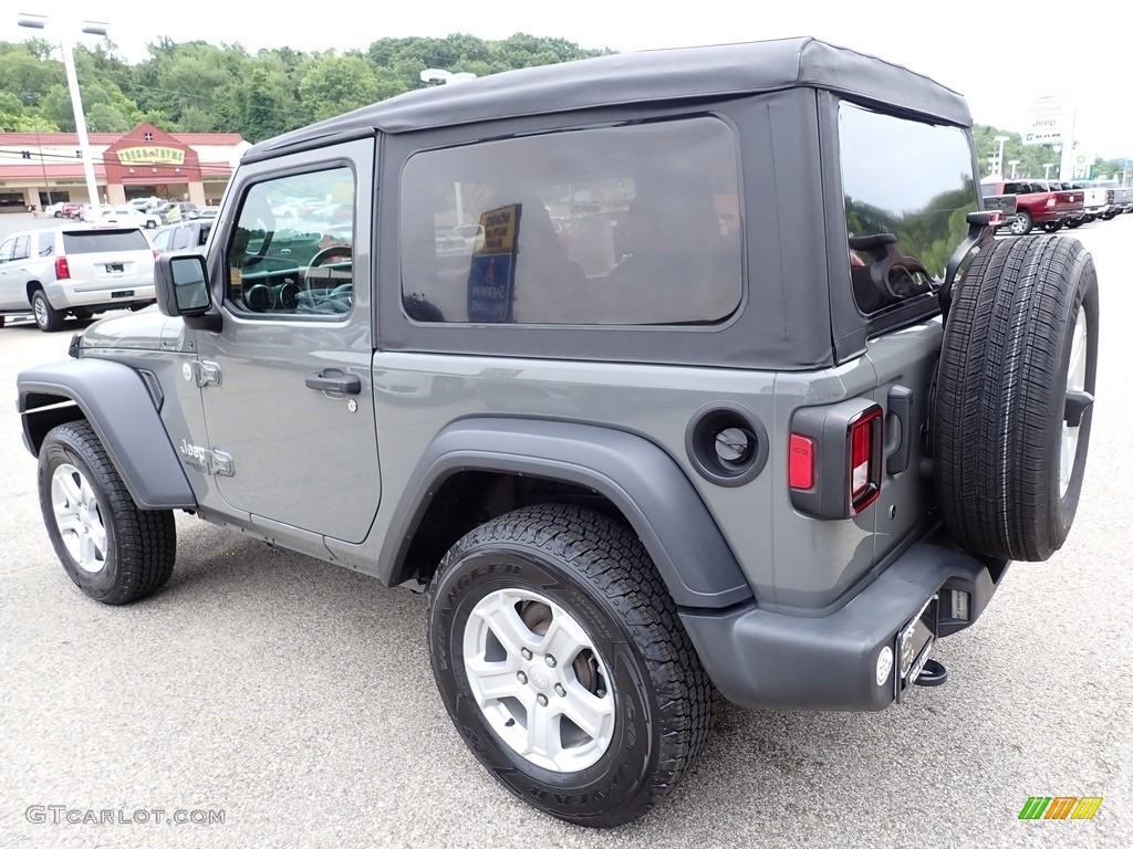
M18 404L108 604L173 511L428 592L457 731L564 820L641 816L717 694L880 710L1066 539L1093 260L997 240L954 92L821 42L414 92L253 147L161 314Z

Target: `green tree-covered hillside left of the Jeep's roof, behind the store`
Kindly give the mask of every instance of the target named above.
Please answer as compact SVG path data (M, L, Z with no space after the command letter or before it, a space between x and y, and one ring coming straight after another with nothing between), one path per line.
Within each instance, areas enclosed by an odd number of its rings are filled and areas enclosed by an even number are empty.
M112 42L79 44L75 62L92 130L119 131L150 121L167 131L228 130L258 142L313 120L385 100L426 84L426 68L487 76L512 68L565 62L610 51L582 50L562 38L517 33L485 41L382 38L365 53L303 53L239 44L160 37L148 58L130 65ZM73 131L75 119L59 49L32 38L0 42L0 120L10 127Z

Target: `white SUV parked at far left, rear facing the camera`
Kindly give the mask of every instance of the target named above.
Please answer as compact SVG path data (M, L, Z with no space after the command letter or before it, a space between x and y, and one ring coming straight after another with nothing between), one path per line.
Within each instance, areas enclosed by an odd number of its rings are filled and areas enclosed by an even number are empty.
M31 314L41 331L62 328L71 314L154 302L154 251L136 226L44 228L0 242L0 326Z

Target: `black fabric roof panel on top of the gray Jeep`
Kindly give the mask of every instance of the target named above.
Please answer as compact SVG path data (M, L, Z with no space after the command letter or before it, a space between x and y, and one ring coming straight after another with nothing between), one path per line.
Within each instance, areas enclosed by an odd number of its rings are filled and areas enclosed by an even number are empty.
M411 132L627 103L718 100L823 88L970 127L964 98L905 68L816 38L680 48L583 59L408 92L252 147L246 161L377 130Z

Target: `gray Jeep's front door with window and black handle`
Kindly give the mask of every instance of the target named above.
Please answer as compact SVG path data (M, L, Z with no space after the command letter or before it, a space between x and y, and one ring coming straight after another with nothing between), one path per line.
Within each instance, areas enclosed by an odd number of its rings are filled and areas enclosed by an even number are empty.
M365 539L381 496L373 163L365 139L241 168L212 257L222 327L197 334L208 461L224 501L347 542Z

